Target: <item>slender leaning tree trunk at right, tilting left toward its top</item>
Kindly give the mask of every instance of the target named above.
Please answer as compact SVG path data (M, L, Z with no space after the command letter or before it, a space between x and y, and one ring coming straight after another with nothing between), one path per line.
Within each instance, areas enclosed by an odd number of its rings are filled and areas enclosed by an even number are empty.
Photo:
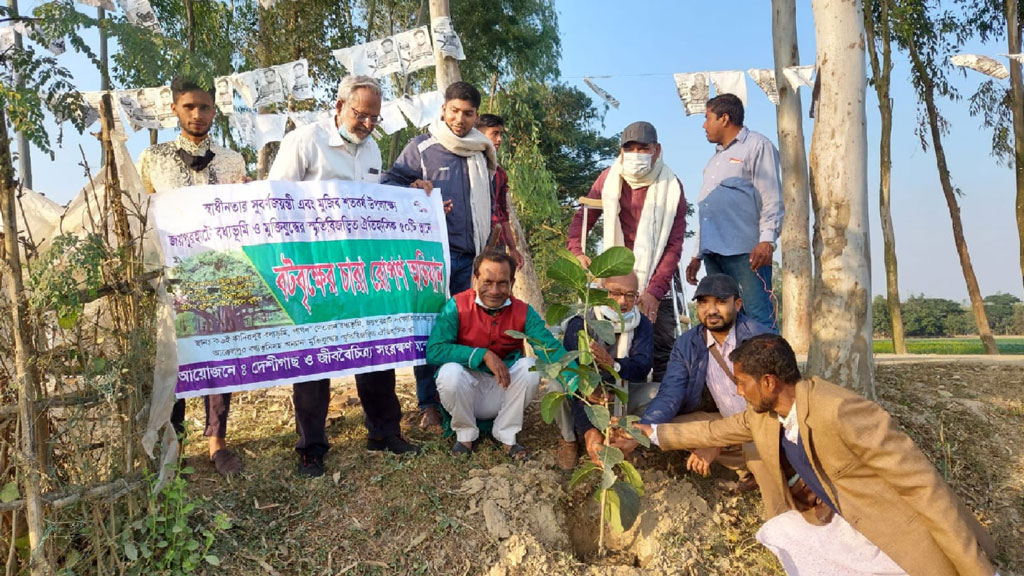
M964 237L964 224L959 217L959 203L956 202L956 193L953 191L952 180L949 177L949 166L946 164L946 153L942 148L942 133L939 126L939 110L935 106L935 82L929 74L929 67L922 59L922 54L918 50L918 45L910 38L907 41L907 51L910 54L910 61L913 65L918 78L921 82L921 98L925 100L925 111L928 115L928 131L932 133L932 148L935 149L935 163L939 170L939 183L942 184L942 195L946 198L946 207L949 209L949 219L953 227L953 242L956 245L956 255L959 256L961 269L964 271L964 280L967 281L967 294L971 298L971 310L974 312L974 321L978 325L978 335L985 346L985 354L999 354L999 348L992 338L992 330L988 326L988 315L985 314L985 302L981 298L981 288L978 287L978 277L974 274L974 264L971 263L971 253L967 248L967 239Z

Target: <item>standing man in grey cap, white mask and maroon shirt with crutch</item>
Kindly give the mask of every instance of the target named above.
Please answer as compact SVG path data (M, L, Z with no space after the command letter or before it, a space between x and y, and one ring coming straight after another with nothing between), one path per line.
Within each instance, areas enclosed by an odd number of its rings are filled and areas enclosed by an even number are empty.
M600 210L588 210L587 234L603 212L604 246L626 246L636 255L637 303L654 323L653 379L659 381L676 340L677 319L670 293L686 236L686 199L683 184L662 161L654 126L634 122L623 130L622 142L618 158L601 172L587 195L600 199L602 205ZM581 207L569 225L566 248L590 265L581 244L582 232Z

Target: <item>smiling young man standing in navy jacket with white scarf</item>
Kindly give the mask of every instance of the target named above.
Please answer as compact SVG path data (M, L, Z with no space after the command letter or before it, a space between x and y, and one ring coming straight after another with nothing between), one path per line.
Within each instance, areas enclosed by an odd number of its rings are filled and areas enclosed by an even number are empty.
M483 251L492 227L492 180L498 166L495 146L476 130L480 92L467 82L444 90L440 117L406 145L383 183L409 186L420 180L440 189L447 216L452 270L449 288L458 294L470 287L473 258ZM418 367L416 396L420 428L440 430L441 416L433 370Z

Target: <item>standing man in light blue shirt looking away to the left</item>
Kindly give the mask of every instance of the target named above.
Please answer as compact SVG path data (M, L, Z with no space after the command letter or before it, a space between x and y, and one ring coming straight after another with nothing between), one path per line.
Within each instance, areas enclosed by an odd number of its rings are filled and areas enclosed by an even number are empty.
M771 258L782 229L782 182L778 151L743 126L743 102L735 94L708 100L705 133L715 156L703 171L697 205L700 227L686 281L728 274L739 283L748 316L777 331L771 301Z

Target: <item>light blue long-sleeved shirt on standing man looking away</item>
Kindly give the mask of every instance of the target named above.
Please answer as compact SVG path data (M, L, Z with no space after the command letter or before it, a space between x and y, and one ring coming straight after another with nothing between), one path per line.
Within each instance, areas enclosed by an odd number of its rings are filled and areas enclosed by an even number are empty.
M759 242L775 242L785 210L778 151L771 140L744 127L728 146L716 146L697 206L698 258L748 254Z

